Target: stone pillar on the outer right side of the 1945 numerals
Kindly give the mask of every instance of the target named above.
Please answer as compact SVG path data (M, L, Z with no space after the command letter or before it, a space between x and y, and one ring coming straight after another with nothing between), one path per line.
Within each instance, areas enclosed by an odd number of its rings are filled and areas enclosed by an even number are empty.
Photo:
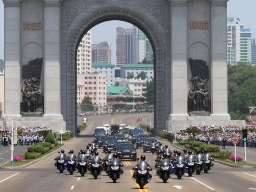
M227 1L211 2L211 60L213 120L230 120L228 114Z

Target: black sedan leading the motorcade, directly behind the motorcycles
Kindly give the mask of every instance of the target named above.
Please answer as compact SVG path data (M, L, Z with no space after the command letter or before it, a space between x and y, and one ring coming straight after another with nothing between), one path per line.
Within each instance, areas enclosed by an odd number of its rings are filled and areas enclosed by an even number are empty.
M137 152L133 144L122 143L116 149L116 154L119 159L132 159L137 161Z

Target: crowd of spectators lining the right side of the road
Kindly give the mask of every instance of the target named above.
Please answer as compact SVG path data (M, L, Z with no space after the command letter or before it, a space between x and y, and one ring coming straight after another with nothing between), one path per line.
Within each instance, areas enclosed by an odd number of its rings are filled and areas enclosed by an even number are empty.
M195 129L196 127L196 129ZM237 146L243 146L242 142L242 129L247 129L247 146L256 147L256 121L253 120L250 124L244 126L235 125L221 125L221 126L195 126L189 125L187 127L189 130L194 128L195 132L188 133L186 130L181 133L175 133L174 138L177 142L182 139L188 139L190 136L194 137L195 141L202 141L208 144L219 145L225 149L225 146L233 146L231 143L231 138L237 136L239 141ZM187 129L187 130L188 130Z

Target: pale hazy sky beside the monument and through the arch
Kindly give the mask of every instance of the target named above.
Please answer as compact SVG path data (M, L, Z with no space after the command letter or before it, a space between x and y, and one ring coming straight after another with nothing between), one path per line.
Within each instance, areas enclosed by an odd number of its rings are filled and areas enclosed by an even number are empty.
M205 0L207 1L207 0ZM239 18L244 28L250 28L252 37L256 38L256 0L229 0L228 17ZM95 26L92 29L92 42L111 42L112 63L115 64L116 52L116 26L132 27L130 23L122 21L108 21ZM101 35L101 31L104 34ZM0 59L4 59L4 5L0 0Z

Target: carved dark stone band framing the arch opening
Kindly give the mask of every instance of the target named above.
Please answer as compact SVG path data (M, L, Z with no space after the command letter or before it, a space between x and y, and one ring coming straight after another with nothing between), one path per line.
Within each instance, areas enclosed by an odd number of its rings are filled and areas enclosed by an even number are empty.
M93 26L109 20L121 20L140 28L149 38L154 52L154 133L165 127L164 122L164 46L157 28L139 12L124 7L98 9L80 20L67 44L67 130L76 134L76 51L83 35Z

